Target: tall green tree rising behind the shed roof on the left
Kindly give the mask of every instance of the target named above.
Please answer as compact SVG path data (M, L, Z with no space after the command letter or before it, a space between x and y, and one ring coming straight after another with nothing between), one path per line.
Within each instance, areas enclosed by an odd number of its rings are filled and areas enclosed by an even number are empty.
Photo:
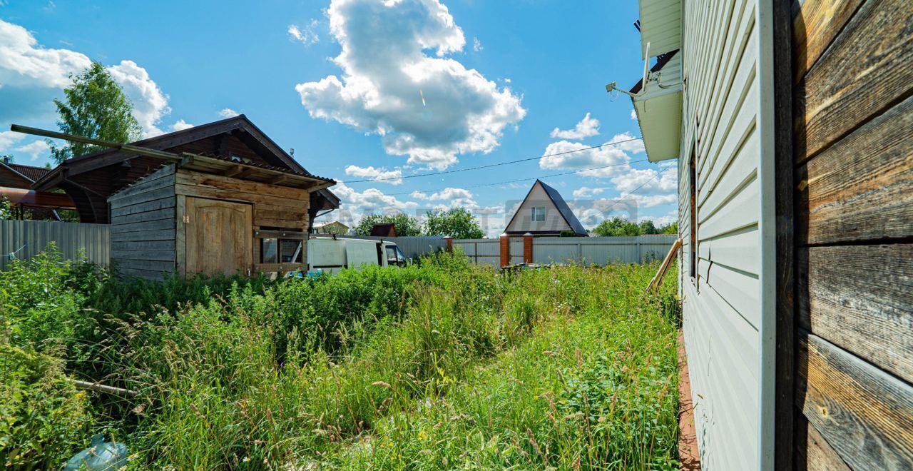
M54 99L60 131L114 142L137 141L142 137L140 123L133 117L133 104L101 64L92 62L79 75L69 77L73 82L63 90L64 99ZM67 142L63 147L52 141L47 143L58 163L101 149L81 142Z

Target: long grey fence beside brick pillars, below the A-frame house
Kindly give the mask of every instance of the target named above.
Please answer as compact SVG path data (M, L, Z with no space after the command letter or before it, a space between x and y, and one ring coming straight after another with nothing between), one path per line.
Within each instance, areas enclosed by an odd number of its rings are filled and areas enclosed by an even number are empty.
M582 263L604 266L609 263L646 263L662 260L677 235L638 235L633 237L535 237L532 239L533 263ZM498 239L454 240L454 246L477 264L498 266ZM510 263L523 261L523 238L510 238Z

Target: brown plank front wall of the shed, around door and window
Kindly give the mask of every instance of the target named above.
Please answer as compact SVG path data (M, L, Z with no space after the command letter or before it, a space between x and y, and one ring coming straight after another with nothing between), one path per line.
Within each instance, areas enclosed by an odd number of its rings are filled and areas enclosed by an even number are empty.
M268 183L247 182L236 178L197 173L179 169L175 175L174 192L177 205L183 208L186 197L211 198L238 203L249 203L254 206L254 226L252 233L259 229L294 229L308 232L310 194L308 190L278 186ZM181 215L178 215L180 218ZM177 238L184 240L183 225L178 226ZM253 234L251 234L253 236ZM260 243L255 238L254 268L257 271L273 272L297 269L302 264L260 264ZM185 252L179 248L177 253L178 271L184 273ZM302 246L302 259L307 260L307 244Z

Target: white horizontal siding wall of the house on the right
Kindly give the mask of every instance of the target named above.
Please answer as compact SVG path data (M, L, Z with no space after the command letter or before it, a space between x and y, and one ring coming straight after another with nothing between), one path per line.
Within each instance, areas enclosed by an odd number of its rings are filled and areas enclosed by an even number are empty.
M683 2L678 159L681 291L701 466L759 459L761 160L754 0ZM699 124L698 124L699 123ZM688 163L697 141L698 278L690 279Z

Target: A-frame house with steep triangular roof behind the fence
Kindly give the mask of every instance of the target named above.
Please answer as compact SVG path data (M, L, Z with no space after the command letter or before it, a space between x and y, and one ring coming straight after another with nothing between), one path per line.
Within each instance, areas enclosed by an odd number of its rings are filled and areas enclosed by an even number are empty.
M510 218L504 233L507 235L561 235L572 232L587 236L586 229L577 220L571 208L561 198L558 190L536 180L530 193L523 199L517 212Z

